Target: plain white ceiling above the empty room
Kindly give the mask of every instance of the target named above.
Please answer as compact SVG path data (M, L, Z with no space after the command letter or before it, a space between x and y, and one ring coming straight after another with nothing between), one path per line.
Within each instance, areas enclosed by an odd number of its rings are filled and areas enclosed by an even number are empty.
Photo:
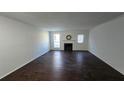
M0 15L39 27L46 31L90 30L112 20L119 12L1 12Z

